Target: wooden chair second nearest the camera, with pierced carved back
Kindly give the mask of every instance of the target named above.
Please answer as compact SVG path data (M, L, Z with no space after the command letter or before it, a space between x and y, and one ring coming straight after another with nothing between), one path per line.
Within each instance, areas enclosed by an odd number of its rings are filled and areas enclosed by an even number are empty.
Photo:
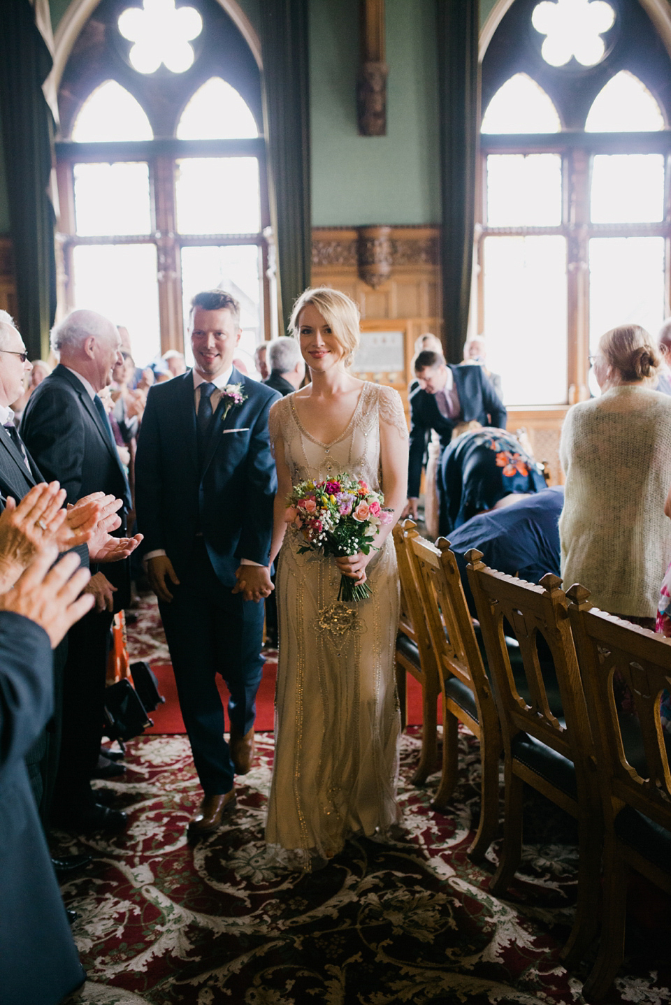
M490 888L503 893L522 849L522 783L576 817L579 876L576 920L563 957L579 960L597 934L603 824L592 737L562 580L540 586L488 569L470 551L467 573L487 651L505 753L503 848ZM504 620L519 642L527 693L515 683L504 640ZM542 636L551 663L538 656ZM540 643L542 645L542 643ZM543 651L547 651L543 646ZM555 677L554 677L555 673ZM562 712L550 696L556 680Z

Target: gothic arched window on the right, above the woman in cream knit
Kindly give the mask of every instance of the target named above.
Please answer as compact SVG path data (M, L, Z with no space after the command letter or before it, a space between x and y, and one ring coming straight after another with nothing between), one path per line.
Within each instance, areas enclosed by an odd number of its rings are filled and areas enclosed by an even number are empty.
M477 330L506 404L589 396L671 311L671 59L638 0L515 0L482 62Z

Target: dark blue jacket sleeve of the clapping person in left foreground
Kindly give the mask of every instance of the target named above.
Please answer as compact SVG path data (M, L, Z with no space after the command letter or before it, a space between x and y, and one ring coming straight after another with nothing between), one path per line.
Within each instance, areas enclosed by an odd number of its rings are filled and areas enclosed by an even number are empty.
M56 1005L84 979L25 765L53 709L51 659L42 628L0 612L3 1005Z

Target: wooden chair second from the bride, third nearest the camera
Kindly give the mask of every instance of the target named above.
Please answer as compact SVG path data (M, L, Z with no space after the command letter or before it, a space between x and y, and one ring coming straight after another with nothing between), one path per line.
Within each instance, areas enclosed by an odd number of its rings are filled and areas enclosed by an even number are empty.
M434 800L444 810L457 783L458 724L480 741L480 821L468 849L481 859L498 829L498 769L501 732L478 649L456 559L450 543L435 545L407 527L404 536L414 557L416 580L428 621L443 694L443 770Z

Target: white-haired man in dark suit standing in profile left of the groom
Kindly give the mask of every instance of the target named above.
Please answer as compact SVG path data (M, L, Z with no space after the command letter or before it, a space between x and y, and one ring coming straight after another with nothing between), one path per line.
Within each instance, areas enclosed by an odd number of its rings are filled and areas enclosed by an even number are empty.
M124 500L120 533L131 492L111 427L97 392L122 359L117 328L92 311L74 311L51 333L60 363L31 395L21 435L39 470L58 480L68 502L102 491ZM109 627L128 606L128 561L91 568L95 608L68 634L63 675L62 742L54 793L54 815L73 829L111 830L126 814L95 802L90 777L97 765L104 706Z

